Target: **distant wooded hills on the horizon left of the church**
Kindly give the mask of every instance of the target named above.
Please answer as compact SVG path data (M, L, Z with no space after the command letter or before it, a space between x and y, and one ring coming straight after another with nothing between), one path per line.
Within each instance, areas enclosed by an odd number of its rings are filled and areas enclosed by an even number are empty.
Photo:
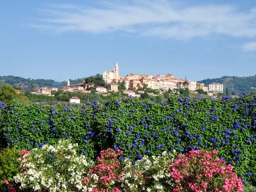
M102 76L97 74L96 76ZM79 84L84 81L85 78L81 79L69 79L70 84ZM25 79L17 76L0 76L0 84L7 83L12 86L22 87L25 91L30 90L33 85L35 88L38 87L61 87L67 84L67 81L54 81L52 79Z

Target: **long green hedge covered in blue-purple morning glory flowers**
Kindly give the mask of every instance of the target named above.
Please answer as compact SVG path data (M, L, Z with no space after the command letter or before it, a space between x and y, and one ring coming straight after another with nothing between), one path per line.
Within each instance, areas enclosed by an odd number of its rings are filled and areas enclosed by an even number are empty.
M217 149L237 174L256 185L255 101L255 93L218 100L172 97L165 103L115 98L79 108L12 101L0 105L0 134L20 149L72 137L88 159L108 147L121 149L131 160L172 149Z

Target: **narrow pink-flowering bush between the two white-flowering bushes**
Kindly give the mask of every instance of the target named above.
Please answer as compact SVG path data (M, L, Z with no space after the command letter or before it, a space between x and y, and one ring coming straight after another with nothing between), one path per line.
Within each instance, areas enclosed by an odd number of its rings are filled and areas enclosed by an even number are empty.
M84 177L84 184L91 184L93 192L121 192L118 188L122 173L122 163L117 157L122 151L108 148L100 152L96 163L90 168L90 172Z

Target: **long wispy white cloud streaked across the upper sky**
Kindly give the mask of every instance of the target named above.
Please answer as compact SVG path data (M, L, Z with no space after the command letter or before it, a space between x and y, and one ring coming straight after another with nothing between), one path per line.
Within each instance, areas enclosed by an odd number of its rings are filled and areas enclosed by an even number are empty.
M99 34L122 31L176 39L210 35L256 37L255 8L239 12L230 5L189 6L168 0L96 2L93 6L52 5L40 11L43 18L32 26L55 32Z

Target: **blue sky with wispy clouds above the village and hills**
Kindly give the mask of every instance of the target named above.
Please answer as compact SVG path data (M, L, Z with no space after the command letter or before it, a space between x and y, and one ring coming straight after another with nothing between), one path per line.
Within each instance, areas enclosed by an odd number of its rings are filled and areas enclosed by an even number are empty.
M255 0L9 0L0 26L0 76L256 74Z

